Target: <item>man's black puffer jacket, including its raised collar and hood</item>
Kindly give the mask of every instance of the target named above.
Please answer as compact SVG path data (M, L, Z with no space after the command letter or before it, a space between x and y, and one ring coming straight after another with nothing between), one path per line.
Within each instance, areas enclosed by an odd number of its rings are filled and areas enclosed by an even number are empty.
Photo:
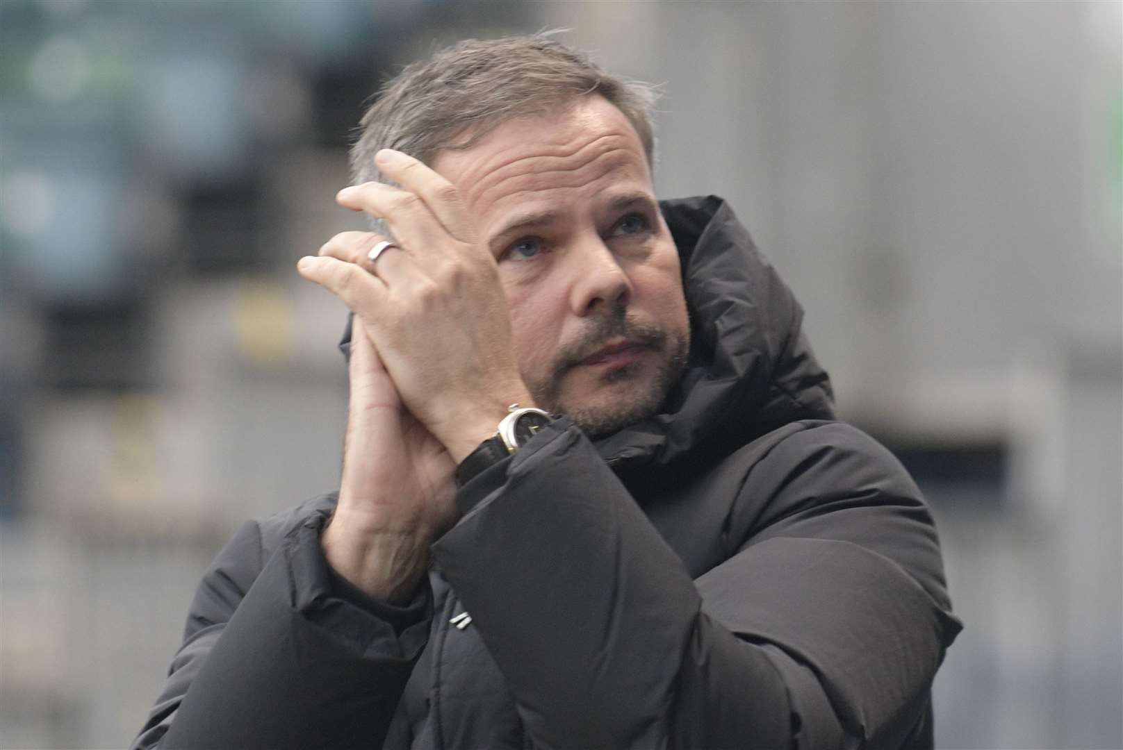
M246 524L136 747L932 746L959 624L920 493L832 421L729 208L664 212L694 324L665 413L596 445L560 420L476 477L407 607L334 578L332 496Z

